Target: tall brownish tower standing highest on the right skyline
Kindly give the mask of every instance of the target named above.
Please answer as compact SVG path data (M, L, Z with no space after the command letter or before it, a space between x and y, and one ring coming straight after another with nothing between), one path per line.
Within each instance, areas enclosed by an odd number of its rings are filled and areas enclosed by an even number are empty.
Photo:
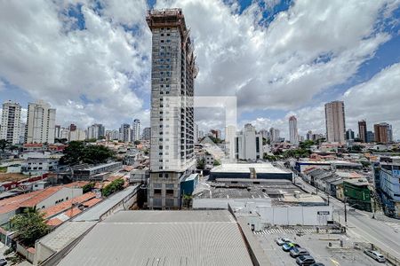
M344 103L333 101L325 104L326 140L346 143L346 121Z

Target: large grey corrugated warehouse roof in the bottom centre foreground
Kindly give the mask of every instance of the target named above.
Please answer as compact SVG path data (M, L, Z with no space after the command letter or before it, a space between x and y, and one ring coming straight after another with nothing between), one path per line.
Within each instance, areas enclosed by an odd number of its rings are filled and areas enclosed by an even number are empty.
M58 265L253 265L228 211L121 211Z

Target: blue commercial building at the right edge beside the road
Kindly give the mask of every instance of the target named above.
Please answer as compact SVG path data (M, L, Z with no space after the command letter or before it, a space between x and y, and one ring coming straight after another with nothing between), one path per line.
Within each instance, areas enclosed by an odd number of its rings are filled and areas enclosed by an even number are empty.
M381 157L374 176L385 214L400 219L400 157Z

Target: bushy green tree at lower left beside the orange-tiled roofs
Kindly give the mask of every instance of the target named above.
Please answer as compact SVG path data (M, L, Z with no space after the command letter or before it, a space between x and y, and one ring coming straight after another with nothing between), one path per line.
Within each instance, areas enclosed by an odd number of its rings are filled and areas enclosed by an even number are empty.
M49 231L44 222L44 214L39 213L36 207L26 208L22 214L13 216L10 222L24 246L35 246L35 241Z

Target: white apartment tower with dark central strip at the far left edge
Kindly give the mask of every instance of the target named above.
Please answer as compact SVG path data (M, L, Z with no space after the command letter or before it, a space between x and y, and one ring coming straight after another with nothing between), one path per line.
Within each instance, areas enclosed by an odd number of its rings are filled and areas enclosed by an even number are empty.
M3 104L0 139L11 144L20 143L20 104L7 101Z

